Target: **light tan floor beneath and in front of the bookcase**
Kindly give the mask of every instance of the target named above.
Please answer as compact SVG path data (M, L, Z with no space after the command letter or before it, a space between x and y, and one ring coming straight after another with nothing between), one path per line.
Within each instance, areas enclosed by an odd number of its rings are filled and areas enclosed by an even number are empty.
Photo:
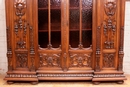
M30 83L14 83L7 84L3 80L5 75L0 74L0 87L130 87L130 75L126 75L127 80L124 84L117 84L115 82L103 82L99 85L94 85L92 82L39 82L37 85L31 85Z

